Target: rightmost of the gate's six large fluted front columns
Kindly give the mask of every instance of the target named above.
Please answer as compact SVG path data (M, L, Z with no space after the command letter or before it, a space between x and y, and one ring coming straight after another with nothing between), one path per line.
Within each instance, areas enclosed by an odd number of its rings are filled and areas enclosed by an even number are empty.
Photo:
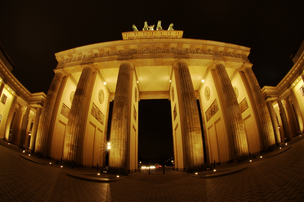
M255 77L250 66L243 69L248 78L254 100L257 103L257 111L261 120L265 149L269 148L271 145L275 144L275 134L272 127L271 118L269 115L269 110L267 108L264 96L262 94L257 78Z

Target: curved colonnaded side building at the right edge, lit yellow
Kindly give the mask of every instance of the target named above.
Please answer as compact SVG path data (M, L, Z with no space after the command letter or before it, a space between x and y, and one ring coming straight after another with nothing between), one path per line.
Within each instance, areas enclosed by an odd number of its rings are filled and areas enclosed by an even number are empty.
M264 86L266 100L275 127L276 143L289 141L304 132L304 43L293 54L293 67L277 86Z

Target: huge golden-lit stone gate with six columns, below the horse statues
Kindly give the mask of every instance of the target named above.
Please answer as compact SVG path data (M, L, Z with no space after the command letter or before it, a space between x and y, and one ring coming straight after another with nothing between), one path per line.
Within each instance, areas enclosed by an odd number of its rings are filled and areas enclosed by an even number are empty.
M275 112L269 113L271 103L264 100L247 58L250 48L182 35L125 32L123 40L55 54L58 65L36 126L36 154L104 166L112 121L109 166L136 171L141 99L171 100L174 162L180 171L204 162L226 164L279 144Z

